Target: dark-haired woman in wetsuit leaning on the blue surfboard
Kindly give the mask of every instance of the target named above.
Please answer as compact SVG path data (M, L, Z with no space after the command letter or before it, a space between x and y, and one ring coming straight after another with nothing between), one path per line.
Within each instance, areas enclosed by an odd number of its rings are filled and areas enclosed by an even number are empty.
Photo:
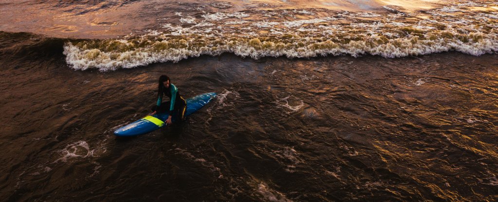
M162 96L166 95L170 101L162 102ZM180 96L175 85L171 84L169 77L161 75L159 77L159 86L157 91L157 103L152 107L152 113L162 113L169 110L166 124L171 124L171 117L176 117L175 121L183 121L187 111L187 102Z

